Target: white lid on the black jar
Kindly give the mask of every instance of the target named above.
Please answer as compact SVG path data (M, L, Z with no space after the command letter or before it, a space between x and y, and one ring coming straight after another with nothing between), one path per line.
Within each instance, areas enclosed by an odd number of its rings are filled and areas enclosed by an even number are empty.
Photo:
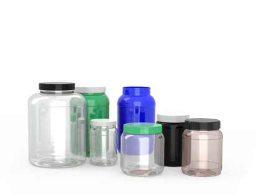
M182 112L162 112L157 114L157 121L159 122L185 122L190 119L190 115Z

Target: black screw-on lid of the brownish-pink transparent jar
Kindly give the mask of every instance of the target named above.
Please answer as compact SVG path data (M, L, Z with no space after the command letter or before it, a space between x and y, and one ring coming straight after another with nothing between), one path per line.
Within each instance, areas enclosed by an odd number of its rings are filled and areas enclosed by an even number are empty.
M221 120L186 119L185 128L190 130L218 130L221 128Z

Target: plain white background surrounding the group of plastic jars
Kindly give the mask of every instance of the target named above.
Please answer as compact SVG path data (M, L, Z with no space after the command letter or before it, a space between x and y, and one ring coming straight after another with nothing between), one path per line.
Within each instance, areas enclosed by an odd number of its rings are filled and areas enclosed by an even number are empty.
M0 0L0 194L255 194L256 1ZM27 99L45 81L150 86L157 112L221 120L219 176L136 178L28 161Z

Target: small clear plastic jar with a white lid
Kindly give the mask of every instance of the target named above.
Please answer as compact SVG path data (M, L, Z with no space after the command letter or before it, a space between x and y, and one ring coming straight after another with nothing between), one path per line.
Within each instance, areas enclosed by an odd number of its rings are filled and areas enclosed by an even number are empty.
M90 130L90 162L96 166L111 166L117 161L116 120L93 119Z

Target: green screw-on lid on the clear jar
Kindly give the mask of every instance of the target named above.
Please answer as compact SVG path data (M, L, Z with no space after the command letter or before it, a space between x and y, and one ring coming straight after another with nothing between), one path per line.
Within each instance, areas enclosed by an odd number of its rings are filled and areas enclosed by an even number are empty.
M161 134L162 125L150 122L134 122L124 124L124 132L127 134Z

